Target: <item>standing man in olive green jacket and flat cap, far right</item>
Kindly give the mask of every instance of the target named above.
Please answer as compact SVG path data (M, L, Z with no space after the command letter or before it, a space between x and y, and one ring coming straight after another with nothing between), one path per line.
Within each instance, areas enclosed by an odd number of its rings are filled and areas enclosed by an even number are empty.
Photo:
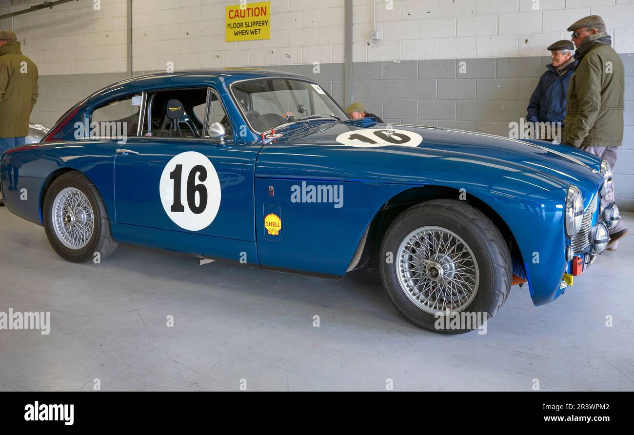
M617 147L623 143L623 62L611 47L611 37L600 16L581 18L568 31L573 32L577 47L574 57L579 63L568 86L564 143L605 159L614 168ZM614 188L601 198L601 206L613 201ZM610 231L607 249L616 249L619 238L627 233L623 221L619 221Z

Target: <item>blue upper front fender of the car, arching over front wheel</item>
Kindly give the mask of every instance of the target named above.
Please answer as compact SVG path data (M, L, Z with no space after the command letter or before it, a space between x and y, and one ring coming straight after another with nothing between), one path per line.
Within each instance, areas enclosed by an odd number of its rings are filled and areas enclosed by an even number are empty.
M449 147L448 147L449 148ZM456 148L456 147L454 147ZM520 157L517 158L521 160ZM543 165L548 162L543 161ZM602 176L592 169L559 159L553 163L563 172L574 168L567 179L579 186L586 205L597 192ZM415 186L445 186L478 198L495 211L514 235L529 275L529 290L536 305L559 295L566 269L564 203L569 181L522 161L484 159L462 150L429 148L351 149L324 145L269 144L259 154L256 174L262 178L329 179L332 181L398 185L398 195ZM299 175L299 176L298 176ZM384 198L374 191L365 194L366 204L376 213ZM370 209L368 209L370 212ZM323 217L322 217L323 218ZM358 216L366 224L372 216ZM359 225L360 226L360 225ZM365 229L365 226L363 227ZM346 249L350 259L360 240ZM347 266L347 263L346 263ZM343 268L344 266L340 266Z

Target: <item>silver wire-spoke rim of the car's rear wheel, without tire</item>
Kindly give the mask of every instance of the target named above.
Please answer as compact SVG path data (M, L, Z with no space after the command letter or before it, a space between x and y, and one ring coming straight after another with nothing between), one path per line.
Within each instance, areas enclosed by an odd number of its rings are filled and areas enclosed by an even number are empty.
M93 207L77 188L67 187L57 194L51 218L56 237L69 249L82 249L93 237Z

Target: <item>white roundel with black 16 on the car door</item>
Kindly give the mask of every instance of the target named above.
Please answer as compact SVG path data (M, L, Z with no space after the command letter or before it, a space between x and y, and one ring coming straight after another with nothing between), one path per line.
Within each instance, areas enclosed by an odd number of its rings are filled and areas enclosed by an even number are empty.
M160 177L160 200L172 221L190 231L207 228L220 208L220 181L204 154L194 151L172 157Z

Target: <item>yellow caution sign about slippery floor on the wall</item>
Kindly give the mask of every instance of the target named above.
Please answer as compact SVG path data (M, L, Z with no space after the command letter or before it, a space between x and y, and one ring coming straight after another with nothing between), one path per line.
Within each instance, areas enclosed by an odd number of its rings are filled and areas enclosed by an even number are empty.
M271 2L243 2L225 8L225 40L271 39Z

